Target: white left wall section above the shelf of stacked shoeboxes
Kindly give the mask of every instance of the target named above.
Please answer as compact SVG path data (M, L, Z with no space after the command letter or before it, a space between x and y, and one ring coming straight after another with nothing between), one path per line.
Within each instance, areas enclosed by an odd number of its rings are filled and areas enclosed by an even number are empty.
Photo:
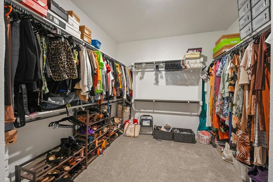
M86 25L92 31L92 39L97 39L102 43L101 50L113 58L117 57L117 43L92 21L92 17L90 19L70 0L55 0L55 2L66 11L73 10L80 18L80 25ZM90 11L92 8L94 7L90 7Z

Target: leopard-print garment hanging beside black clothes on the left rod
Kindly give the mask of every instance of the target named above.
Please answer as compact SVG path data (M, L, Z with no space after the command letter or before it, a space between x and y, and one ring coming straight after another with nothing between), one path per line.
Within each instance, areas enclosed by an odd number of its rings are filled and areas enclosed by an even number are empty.
M48 64L55 81L78 77L72 50L67 40L48 42Z

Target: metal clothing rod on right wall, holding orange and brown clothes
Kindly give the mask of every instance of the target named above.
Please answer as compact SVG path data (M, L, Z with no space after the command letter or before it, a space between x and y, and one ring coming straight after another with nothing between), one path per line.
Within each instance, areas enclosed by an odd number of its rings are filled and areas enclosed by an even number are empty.
M271 26L271 24L267 25L264 29L261 29L255 35L252 35L250 38L244 40L243 42L240 42L238 45L235 45L234 47L232 47L231 49L229 49L227 52L225 52L225 54L222 54L221 56L218 56L217 58L215 58L213 60L213 62L217 61L218 59L223 58L224 56L228 55L229 53L233 52L234 50L241 49L243 47L248 46L248 44L250 42L252 42L253 37L255 37L255 36L259 37L259 36L261 36L265 31L267 31L267 30L269 30L271 28L270 26Z

